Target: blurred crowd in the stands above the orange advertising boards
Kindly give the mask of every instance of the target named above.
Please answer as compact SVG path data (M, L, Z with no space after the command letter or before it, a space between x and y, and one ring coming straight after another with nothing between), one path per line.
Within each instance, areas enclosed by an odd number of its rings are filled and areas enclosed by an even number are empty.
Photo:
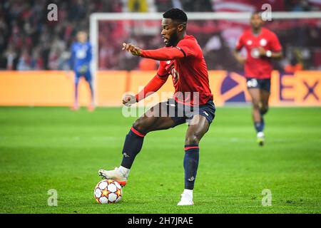
M58 21L49 21L49 4L58 6ZM321 0L4 0L0 2L0 69L68 70L71 43L76 31L89 28L93 12L163 12L172 7L184 11L320 11ZM321 20L267 22L277 33L285 58L279 70L321 70ZM198 39L209 69L240 71L233 47L248 21L190 21L188 33ZM98 66L102 70L153 69L157 63L133 58L121 51L130 41L141 48L162 46L159 21L101 21Z

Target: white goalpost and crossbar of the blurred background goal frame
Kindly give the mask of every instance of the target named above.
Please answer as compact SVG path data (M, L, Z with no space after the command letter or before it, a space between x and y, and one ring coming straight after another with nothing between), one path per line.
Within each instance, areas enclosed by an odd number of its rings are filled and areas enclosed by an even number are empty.
M253 12L188 12L189 20L245 20L250 19ZM272 19L321 19L319 11L309 12L272 12ZM95 81L98 70L98 22L99 21L157 21L163 19L162 13L93 13L90 16L90 41L93 46L91 72ZM95 83L93 83L95 85ZM96 91L96 90L95 90ZM97 97L97 96L96 96Z

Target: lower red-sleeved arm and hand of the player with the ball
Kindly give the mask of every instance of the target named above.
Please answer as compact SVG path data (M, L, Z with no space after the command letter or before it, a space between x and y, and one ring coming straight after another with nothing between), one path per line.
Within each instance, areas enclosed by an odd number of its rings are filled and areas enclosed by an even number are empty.
M123 105L133 105L134 103L143 100L144 98L148 97L148 95L152 95L157 90L159 90L164 83L167 81L168 75L160 76L156 74L151 81L136 95L126 95L123 98Z

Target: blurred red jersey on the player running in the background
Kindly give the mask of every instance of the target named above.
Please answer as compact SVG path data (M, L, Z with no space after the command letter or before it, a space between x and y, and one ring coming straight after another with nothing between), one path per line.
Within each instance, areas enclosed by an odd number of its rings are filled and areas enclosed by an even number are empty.
M254 35L251 29L245 31L240 36L236 49L240 51L241 48L245 47L248 53L245 61L245 76L247 78L271 78L273 70L271 58L259 56L259 46L263 47L266 51L278 52L282 50L275 33L267 28L261 28L261 32L258 35Z

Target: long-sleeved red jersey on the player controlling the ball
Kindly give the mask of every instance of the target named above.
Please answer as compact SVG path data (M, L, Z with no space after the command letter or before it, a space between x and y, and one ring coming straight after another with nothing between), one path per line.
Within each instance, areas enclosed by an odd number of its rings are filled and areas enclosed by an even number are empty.
M204 105L213 99L203 52L193 36L185 35L175 47L142 50L141 56L159 60L160 66L157 75L136 95L137 100L145 98L146 93L156 92L169 75L173 79L174 99L177 102Z

